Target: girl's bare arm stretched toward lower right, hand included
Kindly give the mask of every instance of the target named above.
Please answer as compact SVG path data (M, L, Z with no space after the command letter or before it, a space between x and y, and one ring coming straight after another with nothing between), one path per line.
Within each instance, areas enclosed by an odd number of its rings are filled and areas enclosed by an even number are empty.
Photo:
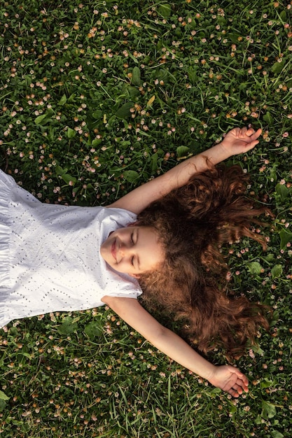
M141 333L153 346L183 367L207 379L212 385L227 391L233 397L248 392L249 381L231 365L216 367L202 358L181 337L163 327L134 298L108 297L102 301L113 309L127 324Z

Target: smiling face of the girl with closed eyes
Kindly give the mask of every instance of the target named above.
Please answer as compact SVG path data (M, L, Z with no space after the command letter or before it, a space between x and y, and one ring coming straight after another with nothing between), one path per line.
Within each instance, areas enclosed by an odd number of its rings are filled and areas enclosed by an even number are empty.
M153 271L164 260L162 246L152 227L116 229L102 243L100 253L110 267L135 277Z

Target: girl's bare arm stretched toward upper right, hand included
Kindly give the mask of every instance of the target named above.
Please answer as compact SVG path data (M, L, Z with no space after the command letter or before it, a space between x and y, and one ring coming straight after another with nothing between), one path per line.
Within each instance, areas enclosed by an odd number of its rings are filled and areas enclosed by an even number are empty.
M195 172L206 170L208 161L211 164L218 164L232 155L251 150L258 144L260 134L261 129L256 132L252 128L232 129L221 143L181 162L158 178L140 185L118 201L113 202L109 207L118 207L139 214L151 202L167 195L171 190L185 185Z

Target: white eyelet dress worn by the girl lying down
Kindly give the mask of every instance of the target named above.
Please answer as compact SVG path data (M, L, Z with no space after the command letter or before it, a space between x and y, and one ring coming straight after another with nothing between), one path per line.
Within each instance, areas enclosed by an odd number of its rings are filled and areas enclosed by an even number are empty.
M135 278L100 255L109 233L134 222L123 209L43 204L0 171L0 327L15 318L137 298Z

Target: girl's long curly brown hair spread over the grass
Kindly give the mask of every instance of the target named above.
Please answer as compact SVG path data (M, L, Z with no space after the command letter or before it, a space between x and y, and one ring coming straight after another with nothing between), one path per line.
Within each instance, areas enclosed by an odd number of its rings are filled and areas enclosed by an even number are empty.
M146 306L183 320L184 335L200 351L223 346L229 358L242 355L248 341L254 344L259 326L268 330L266 306L228 295L221 254L222 243L242 236L266 248L251 224L262 225L258 216L271 213L245 196L248 179L239 166L211 167L137 218L155 229L165 251L162 265L139 278Z

